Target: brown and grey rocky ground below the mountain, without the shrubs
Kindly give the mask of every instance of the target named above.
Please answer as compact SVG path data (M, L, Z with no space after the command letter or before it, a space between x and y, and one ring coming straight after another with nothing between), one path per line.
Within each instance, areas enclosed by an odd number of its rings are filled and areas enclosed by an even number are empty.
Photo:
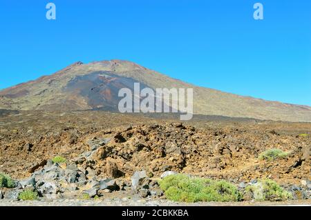
M288 203L310 204L311 123L197 117L182 124L95 111L13 112L0 118L0 172L18 180L16 188L0 189L2 205L22 204L16 200L25 189L41 196L24 203L30 205L182 204L165 200L158 186L171 172L225 179L242 191L270 178L292 192L296 201ZM271 148L288 157L258 159ZM67 161L53 163L55 156ZM218 205L200 203L213 204Z

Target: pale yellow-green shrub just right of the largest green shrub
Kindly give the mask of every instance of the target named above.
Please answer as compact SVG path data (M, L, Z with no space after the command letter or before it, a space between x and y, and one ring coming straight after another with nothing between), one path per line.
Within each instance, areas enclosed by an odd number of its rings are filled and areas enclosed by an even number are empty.
M292 194L271 179L263 179L247 186L245 192L251 192L256 201L283 201L292 199Z

